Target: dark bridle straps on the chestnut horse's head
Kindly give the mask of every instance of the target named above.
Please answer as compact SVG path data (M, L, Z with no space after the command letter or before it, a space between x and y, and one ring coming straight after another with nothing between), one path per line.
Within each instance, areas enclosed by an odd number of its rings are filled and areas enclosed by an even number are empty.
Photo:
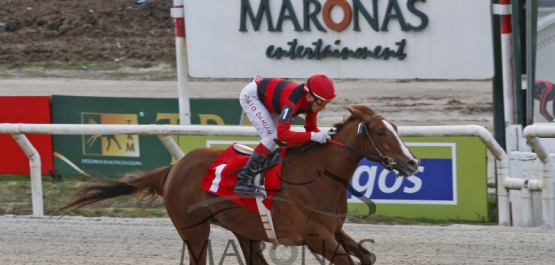
M389 157L389 156L384 156L382 154L382 152L380 152L380 149L378 149L378 147L376 146L376 144L374 143L374 140L372 140L372 137L370 137L370 133L368 132L368 128L366 125L370 126L370 124L372 123L372 121L374 119L376 119L377 117L380 117L382 115L380 114L374 114L372 116L370 116L370 118L366 119L365 121L360 121L360 123L358 124L358 128L357 128L357 133L356 135L359 136L364 132L364 136L362 138L362 143L360 145L360 149L354 148L352 146L348 146L345 145L341 142L335 141L335 140L331 140L329 139L328 142L335 144L337 146L340 147L344 147L347 148L355 153L358 153L359 155L365 157L368 160L372 160L375 162L379 162L381 163L387 170L393 170L393 166L396 165L397 163L393 160L393 158ZM372 155L372 154L368 154L366 152L364 152L364 142L365 140L368 139L368 141L370 141L370 143L372 144L372 146L374 147L374 150L376 151L376 153L378 153L378 155Z

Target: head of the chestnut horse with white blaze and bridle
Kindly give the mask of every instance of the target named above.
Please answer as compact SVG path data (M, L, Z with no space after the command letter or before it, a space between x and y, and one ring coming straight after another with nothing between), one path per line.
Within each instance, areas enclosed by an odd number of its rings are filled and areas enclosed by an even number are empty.
M351 129L338 128L342 135L350 134L344 136L344 147L381 163L388 170L397 170L399 175L406 177L418 172L420 160L401 141L393 123L363 105L351 106L349 112L351 117L342 127Z

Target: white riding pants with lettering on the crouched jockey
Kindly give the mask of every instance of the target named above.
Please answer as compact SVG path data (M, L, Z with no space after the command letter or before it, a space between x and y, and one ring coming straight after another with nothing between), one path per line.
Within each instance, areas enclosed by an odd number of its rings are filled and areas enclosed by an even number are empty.
M257 78L259 77L257 76ZM262 137L260 143L269 151L274 150L274 138L277 138L276 128L279 115L270 113L258 98L256 78L243 88L239 96L239 102L252 125Z

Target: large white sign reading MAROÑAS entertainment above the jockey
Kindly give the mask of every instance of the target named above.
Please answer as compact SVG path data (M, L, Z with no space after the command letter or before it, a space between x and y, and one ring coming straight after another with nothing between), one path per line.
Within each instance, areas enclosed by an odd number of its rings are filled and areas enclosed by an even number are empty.
M490 1L185 0L184 6L193 77L493 76Z

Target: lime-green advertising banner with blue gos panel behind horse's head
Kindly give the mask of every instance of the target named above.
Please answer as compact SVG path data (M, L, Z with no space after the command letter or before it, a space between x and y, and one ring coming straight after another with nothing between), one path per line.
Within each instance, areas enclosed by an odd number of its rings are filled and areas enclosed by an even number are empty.
M349 193L349 208L408 218L487 220L486 147L477 137L406 137L421 159L419 173L397 178L380 164L362 160ZM370 217L371 218L371 217Z

